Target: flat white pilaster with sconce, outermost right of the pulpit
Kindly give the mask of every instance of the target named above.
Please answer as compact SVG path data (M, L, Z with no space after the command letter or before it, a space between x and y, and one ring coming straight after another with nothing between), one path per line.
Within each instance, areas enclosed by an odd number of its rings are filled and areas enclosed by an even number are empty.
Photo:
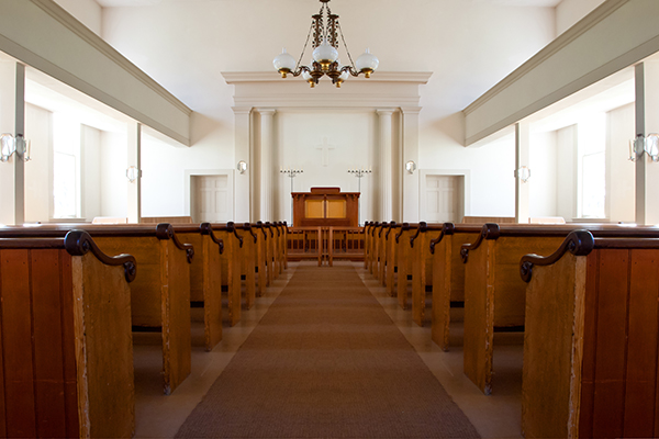
M421 106L404 106L401 108L401 111L403 116L403 162L400 166L399 172L403 175L403 212L400 219L407 223L417 223L420 221L418 169L410 173L404 169L404 166L407 161L414 161L418 168L418 113L421 112Z

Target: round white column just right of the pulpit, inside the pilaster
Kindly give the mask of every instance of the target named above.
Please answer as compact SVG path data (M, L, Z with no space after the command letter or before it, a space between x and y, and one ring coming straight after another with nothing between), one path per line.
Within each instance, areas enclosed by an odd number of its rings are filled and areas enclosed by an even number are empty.
M380 221L393 219L393 109L377 110L380 122Z

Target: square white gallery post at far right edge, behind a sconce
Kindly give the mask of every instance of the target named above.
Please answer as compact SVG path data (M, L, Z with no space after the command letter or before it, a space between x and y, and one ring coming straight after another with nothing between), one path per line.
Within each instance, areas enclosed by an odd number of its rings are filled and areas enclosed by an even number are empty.
M636 66L636 134L659 133L659 61ZM636 223L659 224L659 164L647 154L636 160Z

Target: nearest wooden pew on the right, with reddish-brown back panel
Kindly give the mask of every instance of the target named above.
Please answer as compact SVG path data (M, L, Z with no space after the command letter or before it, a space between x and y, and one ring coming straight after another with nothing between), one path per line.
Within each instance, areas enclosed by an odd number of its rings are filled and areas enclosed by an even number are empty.
M659 239L573 232L521 273L525 437L658 437Z

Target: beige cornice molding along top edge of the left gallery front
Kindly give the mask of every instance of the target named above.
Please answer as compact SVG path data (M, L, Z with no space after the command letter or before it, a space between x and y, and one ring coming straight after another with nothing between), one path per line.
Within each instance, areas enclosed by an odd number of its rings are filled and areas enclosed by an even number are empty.
M82 38L86 43L91 45L93 48L102 53L105 57L112 59L116 65L121 66L130 75L138 79L142 83L150 88L157 94L166 99L169 103L175 105L181 112L190 116L192 110L177 99L174 94L167 91L163 86L156 82L152 77L146 75L137 66L131 63L126 57L120 54L114 47L108 44L103 38L98 36L96 33L90 31L87 26L76 20L69 14L64 8L55 3L53 0L30 0L32 3L41 8L44 12L57 20L68 30L74 32L77 36Z

